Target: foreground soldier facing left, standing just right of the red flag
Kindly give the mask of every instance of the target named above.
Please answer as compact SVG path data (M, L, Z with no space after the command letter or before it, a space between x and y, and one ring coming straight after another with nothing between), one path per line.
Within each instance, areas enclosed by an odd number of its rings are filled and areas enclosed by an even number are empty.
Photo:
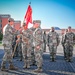
M34 20L33 25L35 31L33 32L33 45L34 45L34 54L37 64L37 69L34 72L42 72L42 63L43 63L43 33L40 27L41 22L39 20Z

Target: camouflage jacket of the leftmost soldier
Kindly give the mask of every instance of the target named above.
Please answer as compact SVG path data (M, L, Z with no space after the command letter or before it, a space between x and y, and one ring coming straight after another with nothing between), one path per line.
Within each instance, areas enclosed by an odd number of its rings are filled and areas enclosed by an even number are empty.
M10 42L12 43L13 40L13 28L7 24L4 28L3 28L3 40L2 43L3 44L9 44Z

